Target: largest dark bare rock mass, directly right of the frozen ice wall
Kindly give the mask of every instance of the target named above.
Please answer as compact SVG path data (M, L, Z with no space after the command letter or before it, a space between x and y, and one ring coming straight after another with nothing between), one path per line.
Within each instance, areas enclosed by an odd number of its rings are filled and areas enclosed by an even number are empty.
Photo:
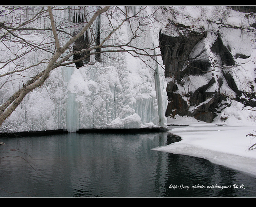
M193 47L205 36L204 32L190 32L187 37L182 35L169 37L160 33L159 40L163 64L165 65L165 77L173 78L173 81L169 81L166 88L169 100L166 116L175 116L176 114L180 116L195 116L198 120L206 122L211 122L214 117L212 109L217 104L218 96L206 93L206 89L215 83L214 78L208 84L198 88L193 94L187 94L190 97L189 103L183 99L181 94L175 93L178 88L177 84L180 84L186 74L200 75L207 72L210 67L210 63L207 61L193 60L183 69L184 62L188 62L188 56ZM211 96L210 103L202 104L193 112L189 111L190 106L199 105Z

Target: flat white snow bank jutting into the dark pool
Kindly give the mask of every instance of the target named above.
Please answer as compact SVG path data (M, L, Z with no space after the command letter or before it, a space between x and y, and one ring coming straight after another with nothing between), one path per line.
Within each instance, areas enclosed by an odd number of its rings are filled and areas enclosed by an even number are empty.
M227 110L232 111L233 115L230 114L225 122L217 119L213 123L205 123L191 117L169 119L169 124L180 125L173 127L170 133L180 136L181 141L153 150L204 158L256 176L256 150L248 150L256 143L256 139L246 137L247 134L254 133L256 124L249 118L250 115L245 117L246 112L234 106ZM234 121L237 118L240 120Z

